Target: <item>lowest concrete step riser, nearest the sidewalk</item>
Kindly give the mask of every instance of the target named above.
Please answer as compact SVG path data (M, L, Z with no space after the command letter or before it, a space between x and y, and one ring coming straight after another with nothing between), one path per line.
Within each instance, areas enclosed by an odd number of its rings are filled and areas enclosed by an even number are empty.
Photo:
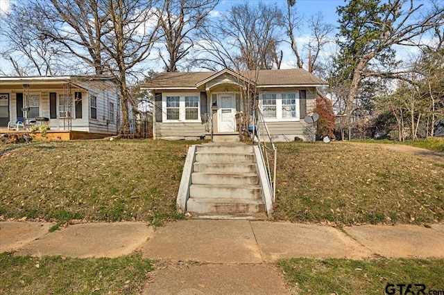
M199 203L198 200L189 199L187 211L195 213L220 214L248 214L265 211L264 204L236 204L236 203Z

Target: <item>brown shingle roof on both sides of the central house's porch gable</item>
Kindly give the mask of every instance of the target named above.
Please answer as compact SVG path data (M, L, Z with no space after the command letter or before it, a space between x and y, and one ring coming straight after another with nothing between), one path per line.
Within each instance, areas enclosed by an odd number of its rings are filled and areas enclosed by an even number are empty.
M189 73L160 73L150 82L144 84L148 89L162 88L185 88L196 87L196 84L202 80L210 78L218 72L189 72ZM258 86L279 85L323 85L327 84L315 75L304 69L282 69L282 70L260 70L260 71L242 71L240 75L251 81L257 81ZM257 78L256 78L257 77Z

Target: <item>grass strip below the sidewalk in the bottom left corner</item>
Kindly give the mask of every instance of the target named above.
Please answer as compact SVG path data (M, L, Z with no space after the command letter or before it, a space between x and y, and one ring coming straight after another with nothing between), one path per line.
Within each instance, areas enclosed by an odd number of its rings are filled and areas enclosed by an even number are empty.
M0 253L0 294L140 294L153 269L141 256L62 258Z

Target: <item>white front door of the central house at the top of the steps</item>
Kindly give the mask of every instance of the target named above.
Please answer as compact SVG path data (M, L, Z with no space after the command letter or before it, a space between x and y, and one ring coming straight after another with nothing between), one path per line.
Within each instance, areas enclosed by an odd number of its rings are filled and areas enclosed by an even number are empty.
M234 94L219 94L217 100L219 132L236 131L236 97Z

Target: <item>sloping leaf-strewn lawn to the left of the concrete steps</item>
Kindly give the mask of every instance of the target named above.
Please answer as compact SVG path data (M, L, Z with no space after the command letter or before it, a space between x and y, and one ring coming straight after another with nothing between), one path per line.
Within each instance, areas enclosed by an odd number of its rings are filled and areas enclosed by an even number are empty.
M3 218L147 221L182 218L184 141L37 141L0 145ZM57 229L58 225L53 229Z

